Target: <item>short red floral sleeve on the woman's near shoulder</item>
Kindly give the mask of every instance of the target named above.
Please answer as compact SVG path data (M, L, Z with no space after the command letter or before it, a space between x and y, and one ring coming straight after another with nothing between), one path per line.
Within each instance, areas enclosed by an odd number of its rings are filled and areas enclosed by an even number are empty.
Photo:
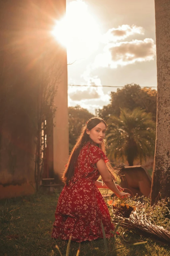
M104 152L97 146L93 146L90 148L90 163L94 164L98 162L101 158L106 162L108 162L108 158L104 154Z

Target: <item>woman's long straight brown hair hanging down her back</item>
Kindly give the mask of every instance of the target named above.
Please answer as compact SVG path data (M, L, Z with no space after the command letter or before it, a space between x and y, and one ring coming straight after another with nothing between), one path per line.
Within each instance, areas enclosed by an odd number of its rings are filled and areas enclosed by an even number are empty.
M81 134L79 135L76 145L74 146L74 148L71 151L71 154L69 156L68 159L68 163L66 165L65 171L63 173L63 181L64 183L68 184L69 180L71 179L71 177L74 175L74 168L80 153L81 148L87 143L90 142L91 144L93 143L93 141L91 140L90 136L86 133L86 129L91 130L92 128L94 128L96 125L98 125L99 123L104 123L106 125L107 128L107 124L106 122L99 117L92 117L91 119L89 119L86 124L83 126L82 130L81 130ZM103 140L101 144L96 144L105 154L106 154L106 148L105 148L105 141ZM116 181L115 176L114 176L114 172L115 170L112 168L110 162L106 163L107 169L112 177L112 179L114 181Z

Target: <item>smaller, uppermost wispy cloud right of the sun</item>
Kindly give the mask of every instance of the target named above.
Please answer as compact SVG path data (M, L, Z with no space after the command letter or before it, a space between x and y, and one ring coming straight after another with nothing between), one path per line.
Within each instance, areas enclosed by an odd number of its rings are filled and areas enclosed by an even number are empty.
M118 26L118 28L110 28L106 34L102 37L103 43L113 43L120 40L124 40L127 37L134 35L134 34L140 34L144 35L144 29L143 27L138 27L135 25L129 26L129 25L121 25Z

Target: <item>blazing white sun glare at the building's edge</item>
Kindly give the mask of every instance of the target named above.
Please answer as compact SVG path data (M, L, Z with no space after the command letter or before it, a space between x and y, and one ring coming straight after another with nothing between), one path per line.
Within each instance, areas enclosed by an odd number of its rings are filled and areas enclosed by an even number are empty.
M84 59L97 50L100 41L100 24L83 1L72 1L66 16L56 21L52 35L67 47L70 61Z

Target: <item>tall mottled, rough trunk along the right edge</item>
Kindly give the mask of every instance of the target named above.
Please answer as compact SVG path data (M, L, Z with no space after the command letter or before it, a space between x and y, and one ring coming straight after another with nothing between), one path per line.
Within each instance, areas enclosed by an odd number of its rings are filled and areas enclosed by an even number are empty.
M159 192L170 197L170 1L155 0L157 131L151 204Z

